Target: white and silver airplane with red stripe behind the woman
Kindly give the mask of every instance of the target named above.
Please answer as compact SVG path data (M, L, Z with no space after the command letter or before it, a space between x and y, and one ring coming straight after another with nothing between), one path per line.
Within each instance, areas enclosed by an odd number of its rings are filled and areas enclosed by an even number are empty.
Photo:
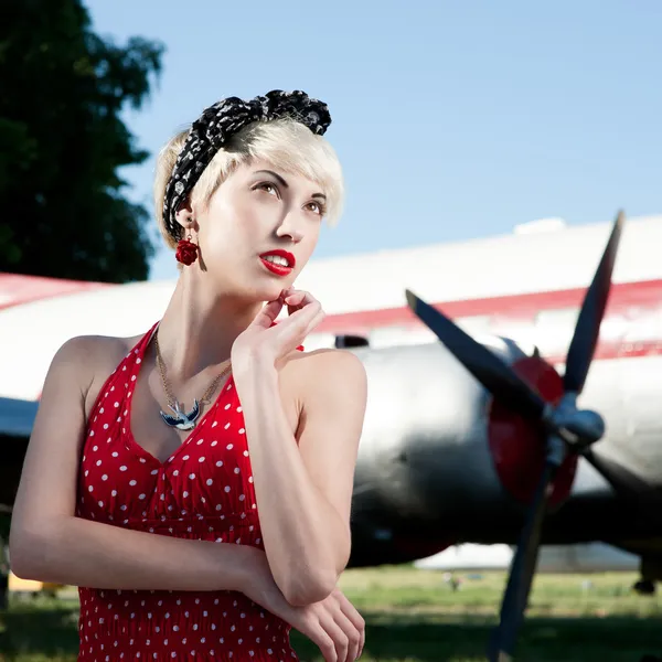
M654 591L662 578L660 245L662 216L624 223L619 215L613 225L541 220L510 235L311 260L296 286L328 317L306 349L348 348L369 376L350 566L410 562L460 543L516 544L501 653L514 645L540 544L613 545L641 559L636 589ZM598 263L597 285L587 289ZM0 374L0 503L11 506L56 349L77 334L145 332L173 287L76 289L0 277L0 342L11 350ZM588 412L572 394L564 398L560 376L576 325L572 352L581 365L570 367ZM565 418L554 407L560 401ZM560 467L545 469L551 447ZM543 470L555 480L541 482Z

